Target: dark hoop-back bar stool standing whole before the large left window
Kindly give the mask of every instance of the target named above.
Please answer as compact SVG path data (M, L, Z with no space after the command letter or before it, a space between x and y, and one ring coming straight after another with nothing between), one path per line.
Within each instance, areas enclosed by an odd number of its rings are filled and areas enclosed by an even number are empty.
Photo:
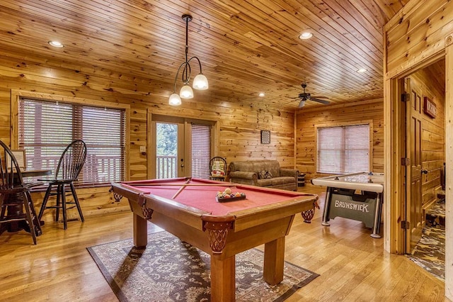
M82 222L84 222L84 215L79 203L79 198L77 198L76 189L74 188L74 181L77 181L77 177L81 172L81 169L84 167L86 160L86 144L83 140L74 140L71 142L66 149L64 149L62 156L59 158L57 170L55 171L54 179L40 179L40 181L49 181L49 186L45 191L44 200L42 201L42 206L38 219L41 220L42 213L46 208L56 208L57 212L55 213L55 221L59 220L59 209L62 208L63 214L63 223L64 230L67 229L67 204L71 203L79 211L79 216ZM67 187L71 189L72 197L74 201L66 201L66 191ZM57 202L55 206L47 206L47 201L50 196L57 196Z

